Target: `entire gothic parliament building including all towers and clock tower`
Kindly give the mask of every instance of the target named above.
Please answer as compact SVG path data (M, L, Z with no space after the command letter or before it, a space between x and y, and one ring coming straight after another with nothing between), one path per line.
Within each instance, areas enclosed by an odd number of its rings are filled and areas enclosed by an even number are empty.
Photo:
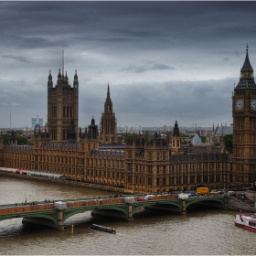
M248 47L232 92L232 116L232 154L223 141L220 146L181 144L177 122L172 135L125 134L118 143L109 84L100 129L92 117L82 132L78 74L71 86L62 68L56 84L48 74L48 125L36 125L31 145L3 144L2 139L0 165L123 187L130 193L249 186L256 171L256 85Z

